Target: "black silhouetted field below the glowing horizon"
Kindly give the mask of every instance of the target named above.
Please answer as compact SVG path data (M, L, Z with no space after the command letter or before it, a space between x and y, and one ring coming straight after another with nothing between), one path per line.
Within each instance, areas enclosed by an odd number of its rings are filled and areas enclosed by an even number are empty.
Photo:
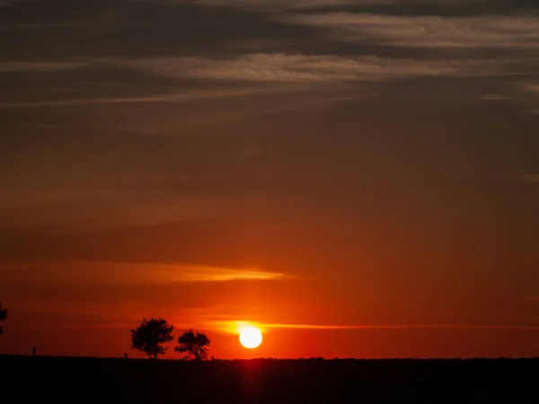
M0 356L0 402L539 403L539 359L183 362Z

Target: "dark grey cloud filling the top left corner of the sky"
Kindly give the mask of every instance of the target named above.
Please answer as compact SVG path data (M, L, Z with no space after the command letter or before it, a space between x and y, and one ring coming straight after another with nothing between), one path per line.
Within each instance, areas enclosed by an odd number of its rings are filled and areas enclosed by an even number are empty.
M295 51L296 43L314 34L269 17L191 2L23 2L0 11L0 46L7 60L219 56L277 47Z

